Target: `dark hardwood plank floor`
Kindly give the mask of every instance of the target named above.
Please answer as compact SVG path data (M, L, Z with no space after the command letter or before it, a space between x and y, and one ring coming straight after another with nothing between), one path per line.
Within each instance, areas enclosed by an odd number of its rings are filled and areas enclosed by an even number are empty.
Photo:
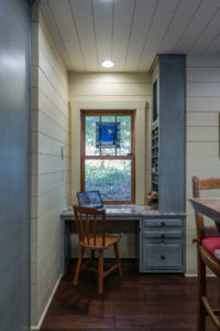
M183 275L140 275L134 260L123 260L97 292L97 276L82 271L73 286L76 261L62 278L44 319L42 331L196 331L196 278ZM208 291L218 307L219 288L208 279ZM207 331L216 330L207 319Z

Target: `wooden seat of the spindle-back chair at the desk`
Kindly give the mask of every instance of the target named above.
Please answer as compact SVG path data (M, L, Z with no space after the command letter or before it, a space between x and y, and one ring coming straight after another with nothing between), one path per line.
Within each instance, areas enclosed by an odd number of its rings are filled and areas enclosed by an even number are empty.
M94 235L90 234L89 235L89 243L88 243L88 238L85 237L84 242L79 242L79 244L84 247L89 247L89 248L94 248L94 249L106 249L108 248L109 246L118 243L120 239L119 236L113 236L113 235L108 235L106 234L106 246L102 247L102 235L101 234L97 234L96 236L96 245L95 245L95 239L94 239Z

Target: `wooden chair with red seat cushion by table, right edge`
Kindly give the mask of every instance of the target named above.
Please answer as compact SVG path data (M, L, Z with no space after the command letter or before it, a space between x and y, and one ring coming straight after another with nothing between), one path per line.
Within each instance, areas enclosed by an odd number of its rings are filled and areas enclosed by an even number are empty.
M200 197L201 190L220 189L220 178L209 178L199 180L193 178L193 195ZM206 289L206 266L220 280L220 260L215 257L215 250L220 249L220 234L216 226L206 227L204 217L196 212L196 229L197 229L197 264L198 264L198 289L197 289L197 331L206 330L206 316L209 316L220 330L219 309L212 309L207 298Z

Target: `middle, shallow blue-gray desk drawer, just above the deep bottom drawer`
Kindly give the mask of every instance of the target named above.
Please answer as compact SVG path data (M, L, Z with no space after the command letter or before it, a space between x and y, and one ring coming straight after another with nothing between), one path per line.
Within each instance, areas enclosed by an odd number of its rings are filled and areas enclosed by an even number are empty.
M173 239L173 238L182 238L183 231L182 228L175 229L166 229L166 228L157 228L157 229L143 229L142 231L142 239Z

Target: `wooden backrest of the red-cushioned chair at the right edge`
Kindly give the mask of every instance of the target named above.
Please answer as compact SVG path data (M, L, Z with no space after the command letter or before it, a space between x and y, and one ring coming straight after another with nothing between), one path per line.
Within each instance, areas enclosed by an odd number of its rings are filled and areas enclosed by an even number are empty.
M201 190L218 190L220 189L220 178L207 178L198 179L198 177L193 177L193 195L194 197L200 197ZM196 225L197 225L197 238L199 241L205 238L205 225L204 217L201 213L195 212L196 214Z

